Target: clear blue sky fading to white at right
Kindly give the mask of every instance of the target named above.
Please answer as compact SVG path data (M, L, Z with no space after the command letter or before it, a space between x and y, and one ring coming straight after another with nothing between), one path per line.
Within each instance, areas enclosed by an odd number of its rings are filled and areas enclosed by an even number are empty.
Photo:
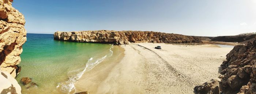
M256 32L256 0L14 0L27 33L142 30L191 36Z

